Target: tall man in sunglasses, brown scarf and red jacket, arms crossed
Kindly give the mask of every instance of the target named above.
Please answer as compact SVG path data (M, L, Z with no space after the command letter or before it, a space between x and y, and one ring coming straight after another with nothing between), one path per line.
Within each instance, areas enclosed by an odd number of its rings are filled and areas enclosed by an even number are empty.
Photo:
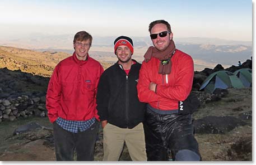
M148 103L145 140L148 161L200 161L193 135L192 115L181 113L194 76L193 60L175 48L170 24L164 20L149 25L153 46L148 48L139 72L138 98Z

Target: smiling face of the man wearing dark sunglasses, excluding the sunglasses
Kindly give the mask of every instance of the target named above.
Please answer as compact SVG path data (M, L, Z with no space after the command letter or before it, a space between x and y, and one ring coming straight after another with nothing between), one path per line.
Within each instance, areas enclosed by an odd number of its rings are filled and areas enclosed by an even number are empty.
M167 26L164 23L159 23L152 27L150 34L158 34L164 31L168 31ZM159 35L157 35L157 38L151 40L157 50L164 51L166 47L169 46L170 40L172 38L173 33L167 33L165 37L160 37Z

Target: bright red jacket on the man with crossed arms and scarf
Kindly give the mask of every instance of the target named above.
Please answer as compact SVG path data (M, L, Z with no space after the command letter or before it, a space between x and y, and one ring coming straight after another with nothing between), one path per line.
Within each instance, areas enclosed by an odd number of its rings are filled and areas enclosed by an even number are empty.
M171 64L171 73L162 75L158 73L159 59L152 57L148 62L143 61L137 85L139 101L160 110L176 110L178 101L187 99L194 77L192 57L176 50ZM157 84L156 93L148 89L150 82Z

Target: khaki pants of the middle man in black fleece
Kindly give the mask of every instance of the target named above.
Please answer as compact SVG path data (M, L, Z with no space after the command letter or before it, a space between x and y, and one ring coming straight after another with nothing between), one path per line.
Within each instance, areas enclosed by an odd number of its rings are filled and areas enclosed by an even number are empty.
M118 161L124 142L133 161L147 161L142 123L139 123L133 129L106 124L103 129L103 161Z

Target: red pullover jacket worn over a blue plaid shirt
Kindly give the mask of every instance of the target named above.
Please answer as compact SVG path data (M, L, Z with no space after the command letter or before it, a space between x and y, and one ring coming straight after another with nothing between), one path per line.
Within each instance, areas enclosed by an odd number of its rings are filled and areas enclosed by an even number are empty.
M58 117L85 121L95 117L96 93L103 73L100 63L87 55L78 60L75 53L59 62L50 78L46 94L46 108L50 122Z

